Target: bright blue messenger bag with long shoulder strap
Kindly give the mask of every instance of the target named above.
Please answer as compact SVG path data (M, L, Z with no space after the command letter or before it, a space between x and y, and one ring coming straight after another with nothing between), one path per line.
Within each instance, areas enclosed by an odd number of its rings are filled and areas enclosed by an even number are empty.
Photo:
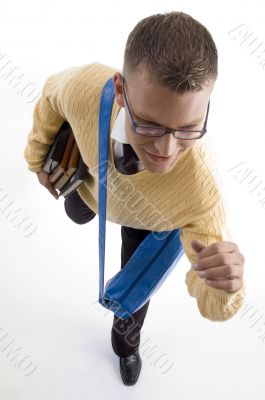
M150 232L127 264L106 283L104 289L106 196L109 127L114 100L110 78L100 99L98 139L99 205L99 299L98 302L117 317L125 319L141 308L160 288L183 255L180 229Z

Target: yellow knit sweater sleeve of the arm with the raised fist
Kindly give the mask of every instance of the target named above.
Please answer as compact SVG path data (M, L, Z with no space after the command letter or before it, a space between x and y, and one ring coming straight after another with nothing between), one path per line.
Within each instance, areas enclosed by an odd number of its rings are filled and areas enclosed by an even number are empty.
M219 241L234 241L226 225L222 199L220 198L216 206L204 217L182 227L180 239L192 264L196 261L196 253L191 247L192 240L201 240L206 246ZM225 321L231 318L244 302L244 280L241 289L227 292L207 285L205 279L198 275L198 271L191 267L186 273L185 283L189 294L196 298L200 314L211 321Z

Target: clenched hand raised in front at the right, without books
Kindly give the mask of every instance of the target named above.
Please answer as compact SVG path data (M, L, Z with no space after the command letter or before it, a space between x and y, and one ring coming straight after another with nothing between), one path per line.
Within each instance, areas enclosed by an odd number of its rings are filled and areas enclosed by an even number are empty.
M197 253L198 271L206 284L226 292L236 292L243 286L245 258L236 243L223 241L206 246L201 240L192 240L191 246Z

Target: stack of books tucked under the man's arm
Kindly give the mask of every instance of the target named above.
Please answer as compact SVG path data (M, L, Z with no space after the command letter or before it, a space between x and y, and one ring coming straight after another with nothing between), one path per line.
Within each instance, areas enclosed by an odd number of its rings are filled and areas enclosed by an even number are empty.
M78 149L72 128L65 121L51 145L42 170L47 172L49 181L59 196L68 196L76 190L88 176L88 167Z

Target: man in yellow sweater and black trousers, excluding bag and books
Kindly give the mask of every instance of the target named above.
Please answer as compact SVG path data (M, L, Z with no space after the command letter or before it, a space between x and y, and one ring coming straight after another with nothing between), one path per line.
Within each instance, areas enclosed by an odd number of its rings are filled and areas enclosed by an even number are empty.
M42 171L64 121L73 129L89 177L65 200L76 223L98 214L98 112L107 79L115 101L110 121L107 220L121 225L121 268L152 231L180 227L192 267L185 283L201 315L225 321L244 299L244 257L228 236L217 182L202 137L217 78L217 49L208 30L188 14L141 20L130 33L123 71L92 63L50 76L34 109L24 156L39 182L58 198ZM196 265L195 265L196 264ZM131 318L114 315L111 343L126 385L141 371L140 330L149 301Z

